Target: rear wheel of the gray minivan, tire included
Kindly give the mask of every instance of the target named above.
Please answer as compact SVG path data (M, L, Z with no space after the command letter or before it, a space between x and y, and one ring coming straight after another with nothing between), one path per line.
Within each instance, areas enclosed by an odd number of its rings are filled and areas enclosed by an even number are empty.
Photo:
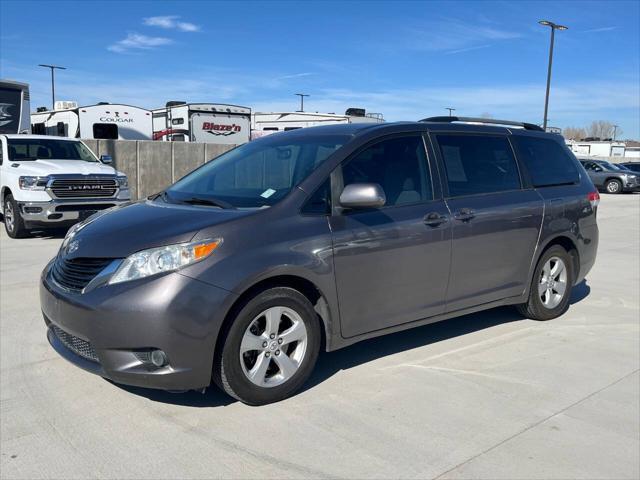
M551 320L569 308L573 286L573 261L560 245L549 248L536 265L527 303L518 311L533 320Z

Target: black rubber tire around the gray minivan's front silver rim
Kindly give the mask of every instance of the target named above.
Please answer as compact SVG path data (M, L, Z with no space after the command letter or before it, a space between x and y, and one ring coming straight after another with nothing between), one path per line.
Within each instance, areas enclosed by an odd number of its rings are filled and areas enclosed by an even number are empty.
M276 306L290 308L299 315L306 328L307 346L291 378L277 386L261 387L252 383L244 373L240 363L240 345L254 319ZM287 287L271 288L248 300L224 335L223 346L214 361L213 380L227 394L248 405L278 402L298 391L313 371L321 343L320 321L313 305L300 292ZM276 359L272 357L272 360L275 364Z

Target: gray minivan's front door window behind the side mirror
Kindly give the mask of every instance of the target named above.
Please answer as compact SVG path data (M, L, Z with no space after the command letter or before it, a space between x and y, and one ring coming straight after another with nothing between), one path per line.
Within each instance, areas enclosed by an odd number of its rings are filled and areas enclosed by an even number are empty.
M420 135L395 137L376 143L342 166L344 186L377 183L386 206L409 205L433 199L427 155Z

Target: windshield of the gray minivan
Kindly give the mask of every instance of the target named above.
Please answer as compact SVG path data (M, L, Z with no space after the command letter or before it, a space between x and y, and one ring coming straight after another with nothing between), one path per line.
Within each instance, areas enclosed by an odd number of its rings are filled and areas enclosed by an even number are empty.
M221 208L259 208L284 198L345 135L271 135L231 150L169 187L168 202Z

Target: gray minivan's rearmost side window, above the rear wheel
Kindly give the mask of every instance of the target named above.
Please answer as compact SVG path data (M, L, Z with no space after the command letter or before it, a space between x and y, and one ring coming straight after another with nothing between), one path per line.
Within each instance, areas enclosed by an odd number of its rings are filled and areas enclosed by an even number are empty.
M569 153L547 138L511 137L518 158L524 163L534 187L574 184L580 174Z

